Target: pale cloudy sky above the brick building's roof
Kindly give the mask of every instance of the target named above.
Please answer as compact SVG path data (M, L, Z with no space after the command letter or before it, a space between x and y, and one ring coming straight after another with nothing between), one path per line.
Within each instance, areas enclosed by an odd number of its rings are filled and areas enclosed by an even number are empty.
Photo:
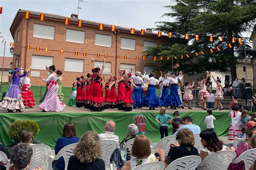
M80 2L79 18L94 22L113 24L135 29L153 28L156 22L173 21L172 18L161 17L170 12L165 5L173 4L173 0L83 0ZM53 13L70 17L77 13L78 0L0 0L3 14L0 15L0 34L6 40L5 56L10 54L10 42L13 42L9 31L12 21L19 9ZM0 56L3 56L4 45L0 39Z

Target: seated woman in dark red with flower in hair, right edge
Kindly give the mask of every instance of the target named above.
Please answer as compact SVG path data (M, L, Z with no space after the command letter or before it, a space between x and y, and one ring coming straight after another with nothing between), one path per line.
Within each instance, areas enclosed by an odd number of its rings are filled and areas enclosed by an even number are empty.
M244 153L251 148L256 148L256 123L254 121L249 121L246 123L245 134L248 138L248 143L242 143L237 148L231 147L231 150L234 151L237 156L235 159L239 157L240 154ZM230 164L229 169L245 169L244 162L240 162L239 164Z

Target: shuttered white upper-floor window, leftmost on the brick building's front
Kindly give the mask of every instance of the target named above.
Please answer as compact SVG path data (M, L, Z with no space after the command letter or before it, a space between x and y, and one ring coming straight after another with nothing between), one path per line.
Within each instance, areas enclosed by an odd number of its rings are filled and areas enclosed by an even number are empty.
M54 26L34 24L33 37L53 40L54 32Z

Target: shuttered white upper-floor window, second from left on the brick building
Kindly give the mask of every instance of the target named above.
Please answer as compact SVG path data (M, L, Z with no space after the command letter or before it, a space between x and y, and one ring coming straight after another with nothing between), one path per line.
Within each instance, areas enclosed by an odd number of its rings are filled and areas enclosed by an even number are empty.
M66 29L66 41L84 44L84 31Z

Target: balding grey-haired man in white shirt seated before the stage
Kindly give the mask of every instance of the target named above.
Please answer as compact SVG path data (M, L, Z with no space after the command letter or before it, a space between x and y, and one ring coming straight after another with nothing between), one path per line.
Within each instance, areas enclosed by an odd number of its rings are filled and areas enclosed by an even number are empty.
M105 131L98 134L99 139L109 139L117 141L117 143L119 143L119 137L114 134L114 129L116 129L116 123L114 123L113 121L107 121L105 124Z

